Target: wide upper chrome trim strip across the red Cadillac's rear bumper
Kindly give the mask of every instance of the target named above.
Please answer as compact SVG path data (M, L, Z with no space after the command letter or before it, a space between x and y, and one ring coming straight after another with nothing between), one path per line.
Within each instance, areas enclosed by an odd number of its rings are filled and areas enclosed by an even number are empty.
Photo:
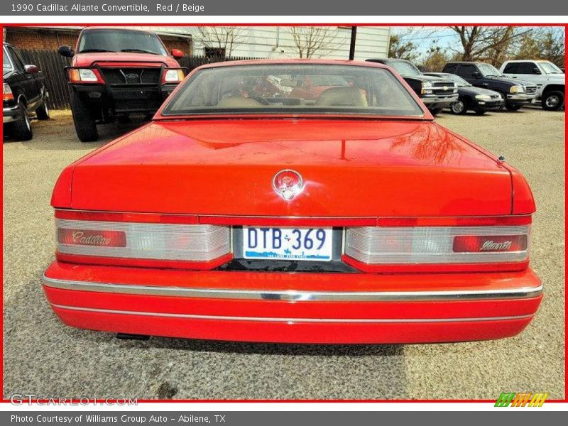
M322 292L302 290L233 290L222 288L163 287L158 285L130 285L93 283L89 281L60 280L43 275L43 284L62 290L82 290L100 293L131 295L199 297L237 300L285 300L310 302L405 302L417 300L492 300L537 297L542 284L537 287L491 290L443 290L443 291L349 291Z

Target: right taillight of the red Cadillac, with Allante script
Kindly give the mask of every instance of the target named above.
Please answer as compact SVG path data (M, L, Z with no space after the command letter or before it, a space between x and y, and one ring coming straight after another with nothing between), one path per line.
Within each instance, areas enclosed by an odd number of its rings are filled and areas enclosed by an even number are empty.
M502 271L526 268L529 248L530 224L357 226L344 260L363 271Z

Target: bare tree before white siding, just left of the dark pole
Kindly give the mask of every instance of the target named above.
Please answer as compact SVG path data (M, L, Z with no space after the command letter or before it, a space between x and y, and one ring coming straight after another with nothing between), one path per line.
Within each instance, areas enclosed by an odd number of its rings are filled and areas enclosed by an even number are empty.
M322 58L337 48L337 33L332 27L314 26L287 28L300 58Z

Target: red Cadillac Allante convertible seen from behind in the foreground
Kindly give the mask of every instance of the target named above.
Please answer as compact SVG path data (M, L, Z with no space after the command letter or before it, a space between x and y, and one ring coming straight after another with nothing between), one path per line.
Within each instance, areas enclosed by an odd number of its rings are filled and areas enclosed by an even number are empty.
M269 76L342 83L304 99L256 90ZM150 124L63 170L52 204L43 286L73 327L455 342L518 334L542 298L523 176L372 62L199 67Z

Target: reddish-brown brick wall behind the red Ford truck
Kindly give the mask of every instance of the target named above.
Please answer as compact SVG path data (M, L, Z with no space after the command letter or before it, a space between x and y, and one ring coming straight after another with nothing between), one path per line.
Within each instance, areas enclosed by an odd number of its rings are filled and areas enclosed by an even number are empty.
M77 33L62 31L21 28L6 28L4 41L15 45L20 49L57 50L60 45L69 45L75 48ZM162 37L165 47L170 52L172 49L181 50L184 55L191 55L191 45L185 38Z

